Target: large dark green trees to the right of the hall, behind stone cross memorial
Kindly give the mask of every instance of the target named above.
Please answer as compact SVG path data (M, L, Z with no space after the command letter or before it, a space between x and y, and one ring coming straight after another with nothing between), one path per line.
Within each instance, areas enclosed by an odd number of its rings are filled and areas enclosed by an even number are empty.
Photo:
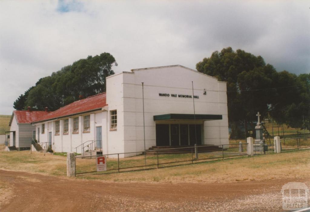
M231 47L196 64L199 72L227 82L228 120L255 120L259 111L278 123L301 127L309 120L310 74L277 72L261 56Z

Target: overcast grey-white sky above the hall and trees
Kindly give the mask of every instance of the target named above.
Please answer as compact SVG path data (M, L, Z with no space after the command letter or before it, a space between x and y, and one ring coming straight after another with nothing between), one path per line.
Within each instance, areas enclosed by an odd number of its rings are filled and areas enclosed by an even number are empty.
M197 62L231 46L310 73L310 1L0 1L0 114L39 78L111 53L115 72Z

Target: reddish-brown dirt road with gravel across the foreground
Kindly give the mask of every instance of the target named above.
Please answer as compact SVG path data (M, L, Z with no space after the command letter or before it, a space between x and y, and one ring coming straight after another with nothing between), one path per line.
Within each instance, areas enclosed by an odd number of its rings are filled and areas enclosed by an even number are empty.
M214 184L105 183L0 170L13 195L0 211L282 211L287 179Z

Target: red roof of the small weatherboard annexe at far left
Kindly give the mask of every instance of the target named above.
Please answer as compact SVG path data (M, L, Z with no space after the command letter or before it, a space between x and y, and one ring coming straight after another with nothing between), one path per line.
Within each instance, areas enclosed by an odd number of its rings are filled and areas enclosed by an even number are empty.
M28 110L15 110L14 116L19 124L30 124L37 119L46 116L50 112L46 111L28 111Z

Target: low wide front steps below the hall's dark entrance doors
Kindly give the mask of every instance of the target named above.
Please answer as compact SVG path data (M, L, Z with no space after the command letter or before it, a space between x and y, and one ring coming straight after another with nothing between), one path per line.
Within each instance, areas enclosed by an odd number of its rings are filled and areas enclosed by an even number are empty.
M173 148L183 148L184 149L173 149ZM168 149L168 150L165 150ZM164 154L187 154L187 153L195 153L195 148L193 145L190 146L152 146L148 150L158 150L159 155ZM215 152L215 151L222 151L222 147L213 146L213 145L197 145L198 153L202 152ZM147 155L157 155L157 151L146 152Z

